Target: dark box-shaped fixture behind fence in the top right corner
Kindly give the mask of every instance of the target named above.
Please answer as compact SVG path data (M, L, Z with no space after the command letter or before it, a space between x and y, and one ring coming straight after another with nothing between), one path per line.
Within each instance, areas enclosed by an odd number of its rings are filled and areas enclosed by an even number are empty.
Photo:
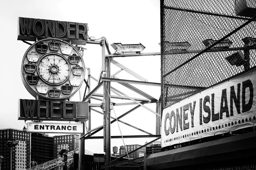
M234 10L236 15L252 18L256 15L255 1L235 0Z

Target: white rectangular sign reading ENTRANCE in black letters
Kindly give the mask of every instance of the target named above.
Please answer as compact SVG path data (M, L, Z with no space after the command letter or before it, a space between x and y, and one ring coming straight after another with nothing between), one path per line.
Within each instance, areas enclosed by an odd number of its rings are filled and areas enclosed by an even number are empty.
M83 133L81 123L34 123L28 122L27 131L32 133Z

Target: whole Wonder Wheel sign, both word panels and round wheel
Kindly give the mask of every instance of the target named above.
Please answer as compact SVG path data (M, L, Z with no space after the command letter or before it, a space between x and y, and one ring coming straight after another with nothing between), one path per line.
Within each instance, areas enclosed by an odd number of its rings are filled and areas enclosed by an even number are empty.
M83 58L69 42L86 44L87 24L19 18L18 30L18 40L35 41L23 56L21 78L36 98L19 99L18 119L88 119L88 102L67 101L80 89L85 77Z

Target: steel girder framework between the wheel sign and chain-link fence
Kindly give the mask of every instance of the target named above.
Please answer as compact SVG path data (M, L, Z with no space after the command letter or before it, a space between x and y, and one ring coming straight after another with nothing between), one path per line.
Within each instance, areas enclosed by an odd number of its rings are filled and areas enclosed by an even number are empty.
M89 42L90 43L90 42ZM110 54L110 51L108 49L108 44L105 41L105 38L102 37L100 41L98 41L98 43L95 44L99 44L102 48L102 69L101 69L101 73L99 75L99 79L94 78L93 76L90 75L90 73L88 73L88 80L84 80L85 84L86 84L86 88L85 88L85 92L84 92L84 98L82 101L89 101L89 126L88 128L86 127L86 129L88 129L86 131L86 133L84 133L84 135L82 135L82 137L80 138L82 141L85 139L102 139L104 140L104 152L105 152L105 157L106 157L106 167L103 168L109 168L109 167L113 167L116 165L124 165L124 163L120 163L120 164L113 164L111 163L110 157L111 157L111 153L110 153L110 139L111 138L145 138L145 137L154 137L156 138L155 140L160 139L160 113L161 113L161 109L160 109L160 100L155 99L154 97L150 96L149 94L147 94L146 92L132 86L131 84L140 84L140 85L148 85L148 86L161 86L160 83L153 83L153 82L147 82L147 79L143 78L141 75L137 74L136 72L132 71L131 69L127 68L126 66L118 63L117 61L113 60L113 57L128 57L128 56L144 56L144 55L160 55L160 53L141 53L141 54ZM107 49L109 55L105 55L105 48ZM120 68L119 71L117 71L114 74L110 74L111 71L111 63L116 65L117 67ZM88 72L89 72L88 68ZM121 71L126 71L129 74L133 75L134 77L138 78L141 81L134 81L134 80L125 80L125 79L119 79L116 77L116 75L118 73L120 73ZM93 79L94 81L97 82L97 86L95 88L91 88L90 82L91 79ZM137 97L130 97L128 95L126 95L124 92L122 92L121 90L118 90L117 88L114 88L111 86L111 82L117 82L119 84L121 84L124 87L127 87L128 89L130 89L131 91L136 92L137 94L145 97L145 98L137 98ZM101 87L103 87L103 93L102 94L98 94L96 93ZM88 91L87 91L88 89ZM87 92L87 95L86 95ZM115 95L112 95L110 93L114 93ZM113 99L124 99L124 100L131 100L132 102L126 102L126 103L113 103L113 106L111 105L111 98ZM99 100L102 101L101 104L92 104L91 103L91 99L94 100ZM144 104L146 103L156 103L156 111L153 111L152 109L146 107ZM121 116L114 118L110 116L111 113L111 109L114 106L123 106L123 105L134 105L136 104L137 106L133 107L132 109L130 109L128 112L122 114ZM131 125L129 123L126 123L125 121L121 121L119 120L120 118L128 115L129 113L133 112L134 110L136 110L139 107L144 107L145 109L147 109L148 111L154 113L156 115L156 134L152 134L149 133L145 130L142 130L140 128L137 128L134 125ZM97 111L96 109L92 108L92 107L101 107L102 108L102 112ZM103 125L95 128L95 129L91 129L90 126L90 119L91 119L91 111L94 111L96 113L102 114L103 115ZM111 121L111 119L113 119ZM143 133L145 133L146 135L128 135L128 136L110 136L110 125L114 122L120 122L123 124L126 124L136 130L139 130ZM100 130L103 129L103 136L92 136L94 134L96 134L97 132L99 132ZM153 140L153 141L155 141ZM152 141L152 142L153 142ZM132 153L132 152L131 152ZM130 153L128 153L130 154ZM138 162L141 161L142 158L140 159L135 159L135 160L130 160L128 161L128 163L134 163L134 162ZM118 159L119 160L119 159ZM116 162L117 160L115 160Z

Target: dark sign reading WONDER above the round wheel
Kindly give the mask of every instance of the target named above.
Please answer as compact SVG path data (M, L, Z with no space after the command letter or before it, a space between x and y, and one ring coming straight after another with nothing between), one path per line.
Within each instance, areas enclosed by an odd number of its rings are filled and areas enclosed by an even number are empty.
M18 40L36 41L36 38L61 38L72 44L85 45L87 23L55 21L18 17Z

